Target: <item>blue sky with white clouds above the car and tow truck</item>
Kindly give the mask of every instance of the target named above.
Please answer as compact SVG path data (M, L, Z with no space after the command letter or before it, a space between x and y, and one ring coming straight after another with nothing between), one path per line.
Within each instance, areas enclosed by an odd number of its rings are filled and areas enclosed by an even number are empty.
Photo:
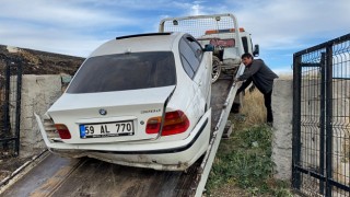
M350 33L350 0L1 0L0 44L88 57L116 36L158 32L164 18L233 13L278 73L293 54Z

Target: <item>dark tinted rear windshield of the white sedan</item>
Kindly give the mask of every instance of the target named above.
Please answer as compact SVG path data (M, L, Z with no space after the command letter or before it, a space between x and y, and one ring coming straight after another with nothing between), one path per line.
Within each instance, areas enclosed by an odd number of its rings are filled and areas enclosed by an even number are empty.
M129 53L86 59L67 93L137 90L175 83L173 53Z

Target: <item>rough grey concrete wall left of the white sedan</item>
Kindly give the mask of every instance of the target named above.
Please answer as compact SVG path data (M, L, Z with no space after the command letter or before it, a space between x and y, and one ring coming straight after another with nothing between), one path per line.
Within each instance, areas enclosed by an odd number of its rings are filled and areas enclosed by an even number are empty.
M61 76L23 76L20 157L34 155L46 148L34 113L43 116L62 93Z

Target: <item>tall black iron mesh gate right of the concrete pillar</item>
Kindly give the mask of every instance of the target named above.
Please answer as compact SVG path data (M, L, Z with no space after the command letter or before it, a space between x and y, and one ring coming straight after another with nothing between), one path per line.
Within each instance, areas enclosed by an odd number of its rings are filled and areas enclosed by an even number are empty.
M350 34L293 57L292 185L350 196Z

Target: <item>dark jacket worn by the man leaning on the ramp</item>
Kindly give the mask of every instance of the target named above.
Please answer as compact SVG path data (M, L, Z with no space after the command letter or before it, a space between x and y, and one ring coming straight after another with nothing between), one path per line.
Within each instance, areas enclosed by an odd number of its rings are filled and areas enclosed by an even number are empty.
M238 80L244 82L237 93L244 91L252 81L262 94L269 93L272 91L273 79L276 78L278 76L261 59L253 59L253 62L246 66L244 73L238 77Z

